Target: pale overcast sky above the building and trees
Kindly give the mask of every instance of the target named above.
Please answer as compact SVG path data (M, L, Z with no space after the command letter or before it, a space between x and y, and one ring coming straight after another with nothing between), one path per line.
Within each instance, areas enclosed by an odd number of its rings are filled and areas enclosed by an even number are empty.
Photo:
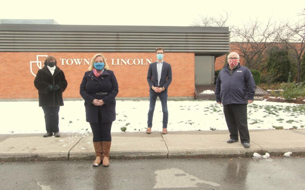
M286 3L283 3L286 2ZM297 21L304 0L5 0L0 19L54 19L73 25L189 26L199 15L230 13L228 24L240 25L249 18Z

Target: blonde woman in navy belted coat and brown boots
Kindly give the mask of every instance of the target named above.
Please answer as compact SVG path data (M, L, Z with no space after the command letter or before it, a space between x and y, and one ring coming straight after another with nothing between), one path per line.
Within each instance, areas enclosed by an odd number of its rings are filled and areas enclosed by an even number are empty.
M96 156L93 166L99 166L101 162L103 166L109 166L110 131L116 119L115 97L118 92L117 79L109 70L105 57L94 55L80 86L81 97L85 100L86 121L93 133Z

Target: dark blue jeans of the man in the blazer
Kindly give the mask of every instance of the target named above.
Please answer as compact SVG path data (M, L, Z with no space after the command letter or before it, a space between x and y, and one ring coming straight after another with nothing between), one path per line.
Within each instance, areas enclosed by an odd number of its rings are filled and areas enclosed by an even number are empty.
M148 119L147 119L147 127L152 127L152 117L153 112L155 111L156 100L159 96L161 105L162 105L162 112L163 112L163 128L167 128L168 122L168 111L167 111L167 92L149 92L149 111L148 111Z

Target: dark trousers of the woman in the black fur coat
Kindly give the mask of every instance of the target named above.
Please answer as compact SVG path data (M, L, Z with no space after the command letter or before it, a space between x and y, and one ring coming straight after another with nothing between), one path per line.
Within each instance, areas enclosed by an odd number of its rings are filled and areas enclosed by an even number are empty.
M48 106L42 107L45 113L45 130L47 133L58 133L59 132L59 106Z

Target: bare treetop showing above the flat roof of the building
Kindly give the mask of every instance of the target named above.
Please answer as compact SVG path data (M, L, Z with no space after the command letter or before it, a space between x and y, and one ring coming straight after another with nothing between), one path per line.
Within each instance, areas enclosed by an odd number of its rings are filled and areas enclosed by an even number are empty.
M221 15L219 14L218 17L214 16L200 16L199 20L196 20L191 24L190 26L218 26L218 27L223 27L227 25L227 21L229 18L228 12L224 11L224 14Z

